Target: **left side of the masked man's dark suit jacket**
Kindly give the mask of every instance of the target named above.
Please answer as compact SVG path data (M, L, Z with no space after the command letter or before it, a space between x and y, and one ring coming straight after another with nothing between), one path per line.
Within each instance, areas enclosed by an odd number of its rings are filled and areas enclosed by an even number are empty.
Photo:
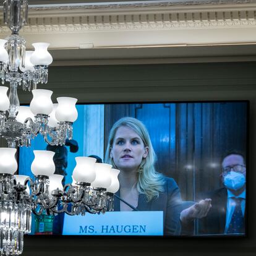
M198 234L223 234L226 225L227 189L223 187L208 192L203 198L211 198L211 209L205 218L198 220Z

